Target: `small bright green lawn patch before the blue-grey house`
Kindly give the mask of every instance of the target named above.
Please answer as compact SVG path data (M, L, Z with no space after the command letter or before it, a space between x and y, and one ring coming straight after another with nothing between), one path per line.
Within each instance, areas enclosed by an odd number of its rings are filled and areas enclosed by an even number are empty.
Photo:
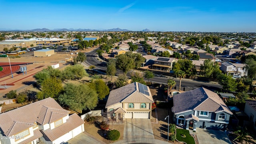
M189 131L188 130L184 130L184 129L176 129L176 139L180 142L186 142L187 144L195 144L194 138L192 136L189 135ZM183 138L181 135L185 134L186 138Z

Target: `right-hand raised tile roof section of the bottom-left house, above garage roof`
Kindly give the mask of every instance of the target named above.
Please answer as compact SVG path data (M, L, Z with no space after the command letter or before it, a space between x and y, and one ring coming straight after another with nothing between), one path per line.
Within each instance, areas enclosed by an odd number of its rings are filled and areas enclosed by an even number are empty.
M64 110L63 108L56 109L50 106L42 106L36 122L41 125L48 124L67 116L68 113L70 113L70 111Z

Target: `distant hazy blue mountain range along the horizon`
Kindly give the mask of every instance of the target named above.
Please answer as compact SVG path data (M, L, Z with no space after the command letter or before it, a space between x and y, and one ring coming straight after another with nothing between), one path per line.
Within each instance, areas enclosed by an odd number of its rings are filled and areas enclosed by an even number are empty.
M74 28L54 28L53 30L50 30L48 28L36 28L36 29L32 29L32 30L18 30L18 29L7 29L7 28L0 28L0 31L10 31L10 32L67 32L67 31L78 31L78 32L129 32L132 30L127 30L127 29L120 29L120 28L112 28L112 29L107 29L107 30L94 30L94 29L82 29L82 28L78 28L78 29L74 29ZM142 32L151 32L151 30L149 29L144 29L144 30L140 30Z

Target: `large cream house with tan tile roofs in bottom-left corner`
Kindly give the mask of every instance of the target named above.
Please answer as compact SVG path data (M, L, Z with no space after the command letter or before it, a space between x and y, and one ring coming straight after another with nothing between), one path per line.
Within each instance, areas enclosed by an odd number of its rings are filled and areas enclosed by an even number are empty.
M84 132L84 121L46 98L0 114L0 144L60 144Z

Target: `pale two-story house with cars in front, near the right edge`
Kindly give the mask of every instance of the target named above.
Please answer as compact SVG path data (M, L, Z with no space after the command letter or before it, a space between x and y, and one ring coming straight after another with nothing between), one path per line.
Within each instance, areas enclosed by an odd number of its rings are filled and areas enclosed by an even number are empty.
M247 76L246 64L233 64L231 62L222 62L220 70L226 74Z

